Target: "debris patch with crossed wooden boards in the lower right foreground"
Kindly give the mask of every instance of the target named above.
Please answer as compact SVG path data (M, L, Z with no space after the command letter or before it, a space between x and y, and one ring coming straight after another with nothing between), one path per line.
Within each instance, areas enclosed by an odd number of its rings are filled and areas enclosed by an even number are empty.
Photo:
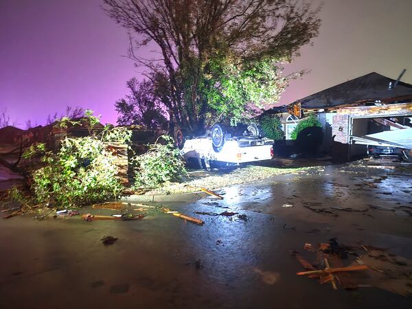
M404 296L412 295L412 260L364 244L356 247L339 244L336 238L331 238L329 243L306 243L304 249L316 253L316 262L312 264L297 251L291 251L306 269L297 275L319 278L320 284L330 282L334 289L338 284L350 290L375 286ZM344 266L343 260L350 263Z

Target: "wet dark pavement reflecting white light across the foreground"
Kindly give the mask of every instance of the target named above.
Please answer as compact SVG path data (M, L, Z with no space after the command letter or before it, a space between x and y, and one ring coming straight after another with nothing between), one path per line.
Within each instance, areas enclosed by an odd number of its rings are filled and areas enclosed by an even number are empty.
M411 168L330 165L227 187L222 201L163 204L203 226L158 210L128 222L0 220L0 308L411 308L411 297L299 277L290 255L337 237L412 258L411 190ZM313 210L330 207L367 210Z

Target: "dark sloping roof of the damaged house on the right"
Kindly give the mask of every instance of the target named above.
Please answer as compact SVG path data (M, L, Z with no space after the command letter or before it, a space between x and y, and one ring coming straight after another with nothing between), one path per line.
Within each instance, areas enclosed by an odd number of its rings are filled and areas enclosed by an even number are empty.
M398 82L395 88L389 89L389 82L393 87L396 80L372 72L308 95L294 103L300 102L301 108L328 108L356 102L375 100L391 102L395 101L391 99L396 98L398 100L412 98L412 84Z

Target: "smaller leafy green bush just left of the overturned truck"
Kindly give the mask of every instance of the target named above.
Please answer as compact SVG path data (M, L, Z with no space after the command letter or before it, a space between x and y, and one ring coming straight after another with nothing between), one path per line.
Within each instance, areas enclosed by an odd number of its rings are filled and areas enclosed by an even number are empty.
M159 139L165 144L159 143ZM135 157L135 187L158 187L167 181L183 181L185 163L170 136L162 135L144 155Z

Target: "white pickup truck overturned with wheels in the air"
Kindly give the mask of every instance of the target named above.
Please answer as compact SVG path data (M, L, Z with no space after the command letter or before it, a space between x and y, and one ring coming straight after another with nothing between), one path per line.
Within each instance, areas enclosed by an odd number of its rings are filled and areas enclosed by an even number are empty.
M248 126L241 136L232 137L224 127L215 124L208 135L187 139L181 155L197 159L201 167L210 168L211 162L240 164L273 158L273 139L260 137L256 126Z

